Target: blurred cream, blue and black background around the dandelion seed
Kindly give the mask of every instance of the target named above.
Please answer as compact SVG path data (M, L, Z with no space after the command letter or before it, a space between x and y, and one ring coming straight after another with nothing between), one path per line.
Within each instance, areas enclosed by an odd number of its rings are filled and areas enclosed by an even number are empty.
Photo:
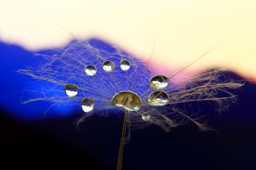
M65 46L72 36L117 45L168 72L196 60L187 73L227 68L227 77L249 79L238 105L219 115L200 103L217 132L186 124L166 133L157 126L132 131L124 170L256 169L256 2L225 1L0 1L0 142L2 166L28 169L116 168L122 116L92 116L78 131L74 106L22 105L34 79L16 73L39 62L33 53ZM198 108L198 104L195 104ZM48 111L47 111L48 110ZM45 111L47 113L45 114ZM92 168L89 168L92 167Z

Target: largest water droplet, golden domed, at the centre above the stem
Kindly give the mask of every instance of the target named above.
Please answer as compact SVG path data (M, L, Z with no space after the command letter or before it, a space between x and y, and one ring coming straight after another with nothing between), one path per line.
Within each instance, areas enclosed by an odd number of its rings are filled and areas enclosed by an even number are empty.
M139 110L141 107L141 99L132 91L121 91L117 93L112 98L112 103L130 111Z

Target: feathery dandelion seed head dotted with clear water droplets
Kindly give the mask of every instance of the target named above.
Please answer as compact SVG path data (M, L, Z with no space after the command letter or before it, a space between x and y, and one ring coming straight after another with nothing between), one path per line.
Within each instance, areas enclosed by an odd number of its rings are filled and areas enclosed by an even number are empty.
M236 102L236 95L229 89L243 85L225 80L223 69L188 75L177 81L173 77L180 71L157 75L149 62L117 47L98 48L80 40L50 54L35 55L43 57L42 61L18 72L55 86L26 102L46 100L80 105L84 114L78 124L92 114L130 110L131 129L156 124L169 131L192 121L200 130L209 130L202 116L191 112L189 103L206 101L222 111Z

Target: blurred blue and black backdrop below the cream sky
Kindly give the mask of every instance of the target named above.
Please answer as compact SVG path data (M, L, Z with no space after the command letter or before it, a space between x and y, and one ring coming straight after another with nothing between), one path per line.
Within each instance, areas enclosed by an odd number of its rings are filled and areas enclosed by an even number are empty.
M115 169L122 115L93 115L79 131L73 124L81 116L76 106L53 107L43 116L51 103L21 104L24 89L41 90L34 79L16 72L38 62L32 55L19 46L0 43L2 166ZM233 73L226 76L241 79ZM199 104L217 131L201 132L193 123L169 133L157 126L132 131L124 148L123 170L256 169L256 85L246 83L243 90L234 93L240 100L238 105L232 104L222 115L210 105Z

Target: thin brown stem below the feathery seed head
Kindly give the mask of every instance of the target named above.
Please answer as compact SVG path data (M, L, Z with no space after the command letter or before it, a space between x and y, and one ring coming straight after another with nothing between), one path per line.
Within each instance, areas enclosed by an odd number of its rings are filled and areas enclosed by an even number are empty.
M118 154L118 161L117 161L117 170L121 170L122 168L122 159L123 159L123 150L124 150L124 136L126 131L126 124L127 124L127 117L129 115L129 110L124 111L124 125L123 125L123 132L121 137L121 143L119 148L119 154Z

